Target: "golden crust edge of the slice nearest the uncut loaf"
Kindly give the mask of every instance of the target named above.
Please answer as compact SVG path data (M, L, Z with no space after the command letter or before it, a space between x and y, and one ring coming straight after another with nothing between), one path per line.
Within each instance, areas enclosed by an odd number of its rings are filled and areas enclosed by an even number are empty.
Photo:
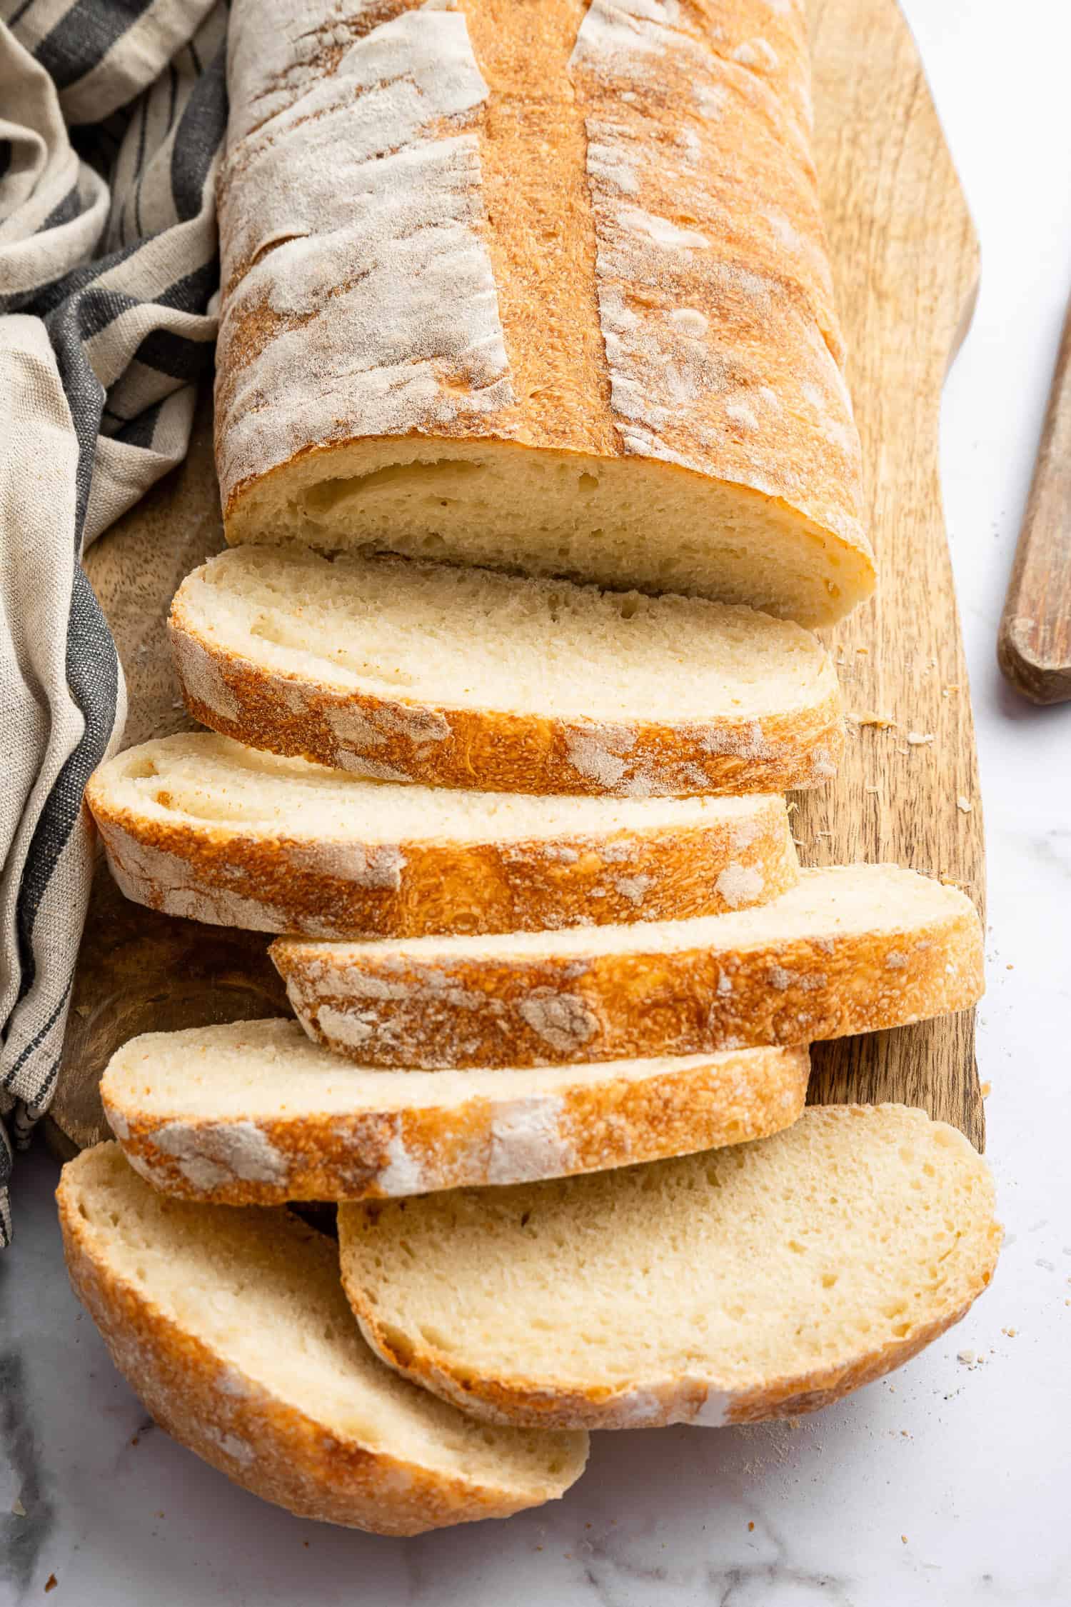
M835 686L761 723L562 720L344 694L276 675L202 636L183 615L181 591L169 630L186 707L202 725L381 781L589 797L788 792L825 784L843 750Z

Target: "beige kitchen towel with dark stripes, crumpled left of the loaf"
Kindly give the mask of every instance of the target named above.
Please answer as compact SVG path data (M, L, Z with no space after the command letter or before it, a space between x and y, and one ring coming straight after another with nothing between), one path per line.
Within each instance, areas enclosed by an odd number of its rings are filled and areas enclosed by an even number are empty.
M225 40L222 0L0 0L0 1244L125 717L80 559L183 458L212 362Z

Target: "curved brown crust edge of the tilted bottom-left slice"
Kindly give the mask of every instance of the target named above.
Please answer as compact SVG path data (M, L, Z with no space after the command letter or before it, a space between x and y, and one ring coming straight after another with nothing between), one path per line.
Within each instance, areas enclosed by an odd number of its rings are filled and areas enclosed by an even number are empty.
M233 1368L95 1253L64 1176L56 1200L71 1284L112 1361L156 1422L236 1485L299 1517L374 1535L419 1535L533 1504L344 1440L250 1379L236 1388Z

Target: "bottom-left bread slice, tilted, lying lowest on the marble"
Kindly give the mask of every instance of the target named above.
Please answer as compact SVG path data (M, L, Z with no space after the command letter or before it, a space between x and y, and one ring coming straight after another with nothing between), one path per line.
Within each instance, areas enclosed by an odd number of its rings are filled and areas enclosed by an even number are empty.
M336 1245L286 1210L156 1194L117 1144L67 1162L74 1290L156 1421L234 1483L377 1535L507 1517L580 1477L586 1435L495 1430L368 1350Z

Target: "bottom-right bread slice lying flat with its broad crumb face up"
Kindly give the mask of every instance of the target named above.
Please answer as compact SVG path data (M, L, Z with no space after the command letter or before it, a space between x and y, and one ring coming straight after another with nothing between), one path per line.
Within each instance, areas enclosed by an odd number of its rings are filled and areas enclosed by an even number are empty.
M734 1149L342 1205L339 1244L373 1348L466 1411L718 1427L907 1361L986 1287L1000 1228L962 1133L904 1106L811 1106Z

